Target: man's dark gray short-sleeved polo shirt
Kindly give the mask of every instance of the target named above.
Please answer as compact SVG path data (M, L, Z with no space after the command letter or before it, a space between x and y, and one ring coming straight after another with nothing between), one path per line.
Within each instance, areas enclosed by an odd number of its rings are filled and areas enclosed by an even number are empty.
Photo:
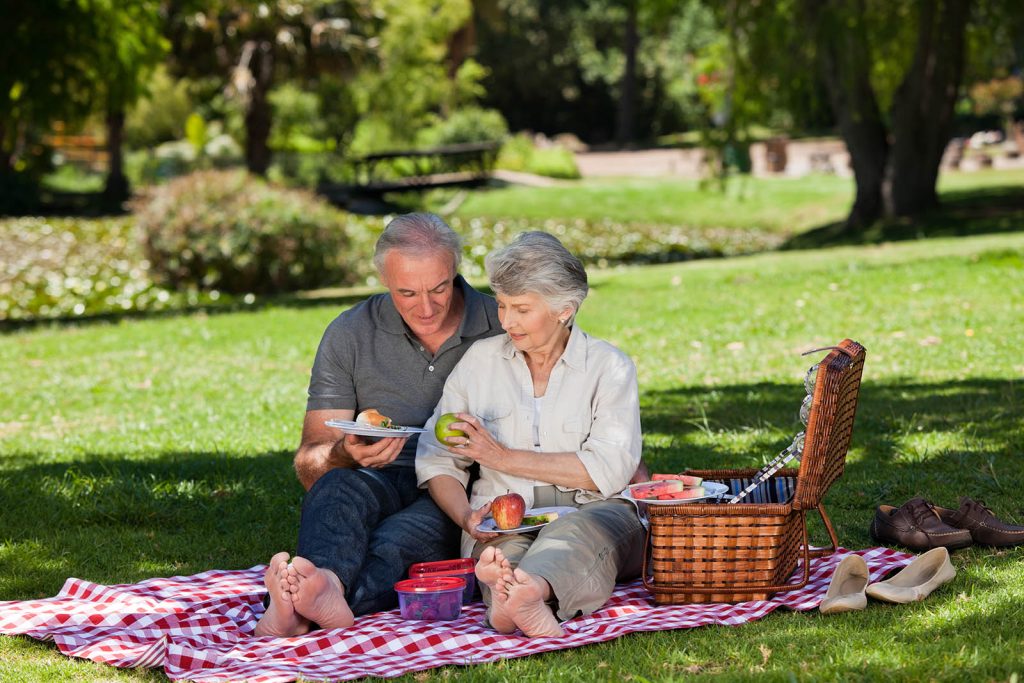
M401 319L390 294L377 294L336 317L324 333L309 379L307 411L376 408L399 425L422 426L440 400L449 373L477 339L502 334L495 300L463 280L466 307L458 331L430 355ZM417 438L395 465L412 467Z

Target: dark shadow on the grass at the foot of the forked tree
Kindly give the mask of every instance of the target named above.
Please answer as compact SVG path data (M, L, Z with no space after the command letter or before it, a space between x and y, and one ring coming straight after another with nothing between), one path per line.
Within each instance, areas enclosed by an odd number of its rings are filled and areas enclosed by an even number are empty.
M916 219L879 221L866 230L849 232L842 222L795 234L780 249L902 242L929 238L1016 232L1024 228L1024 187L999 185L942 193L940 206Z

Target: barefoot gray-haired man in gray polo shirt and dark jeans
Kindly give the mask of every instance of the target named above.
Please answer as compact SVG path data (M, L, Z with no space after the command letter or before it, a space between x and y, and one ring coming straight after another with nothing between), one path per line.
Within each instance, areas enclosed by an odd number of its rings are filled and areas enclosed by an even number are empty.
M459 529L417 487L416 437L369 441L325 422L372 408L422 425L463 353L502 332L494 299L458 274L461 257L459 236L439 217L398 216L374 254L387 293L328 326L295 456L308 489L298 548L291 562L288 553L270 560L256 635L350 626L394 607L393 586L414 562L456 556Z

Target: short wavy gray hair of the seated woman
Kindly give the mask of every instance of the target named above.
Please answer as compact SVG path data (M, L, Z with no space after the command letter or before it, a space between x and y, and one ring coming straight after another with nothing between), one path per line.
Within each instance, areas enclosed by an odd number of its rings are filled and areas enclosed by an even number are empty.
M552 310L572 310L566 325L587 298L587 270L553 234L522 232L510 245L487 254L484 261L496 294L540 294Z

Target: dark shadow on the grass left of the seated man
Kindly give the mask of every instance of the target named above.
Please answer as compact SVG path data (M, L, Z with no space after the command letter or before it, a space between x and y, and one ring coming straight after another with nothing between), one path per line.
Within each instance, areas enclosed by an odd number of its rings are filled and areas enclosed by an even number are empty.
M135 582L250 567L294 550L303 489L292 456L8 457L0 600L52 595L68 577Z

